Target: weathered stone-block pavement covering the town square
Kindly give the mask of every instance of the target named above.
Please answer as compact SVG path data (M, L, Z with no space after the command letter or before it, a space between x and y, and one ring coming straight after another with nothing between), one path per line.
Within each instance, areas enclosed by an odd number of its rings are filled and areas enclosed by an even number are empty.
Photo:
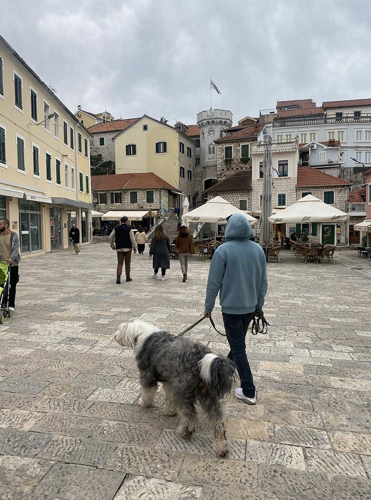
M228 458L208 425L185 442L178 417L138 405L132 351L112 339L133 317L178 333L203 313L209 264L181 282L132 258L115 284L106 244L21 261L17 308L0 327L0 498L209 500L371 498L371 261L268 267L269 335L248 335L258 403L225 398ZM222 328L220 308L213 317ZM201 325L201 326L200 326ZM187 335L227 354L201 323Z

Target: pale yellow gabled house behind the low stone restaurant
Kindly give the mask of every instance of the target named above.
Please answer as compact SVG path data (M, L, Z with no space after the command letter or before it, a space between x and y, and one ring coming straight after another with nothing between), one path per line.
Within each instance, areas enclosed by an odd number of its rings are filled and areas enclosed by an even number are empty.
M113 140L116 174L153 172L192 199L196 143L191 137L143 115ZM173 196L168 202L175 206Z

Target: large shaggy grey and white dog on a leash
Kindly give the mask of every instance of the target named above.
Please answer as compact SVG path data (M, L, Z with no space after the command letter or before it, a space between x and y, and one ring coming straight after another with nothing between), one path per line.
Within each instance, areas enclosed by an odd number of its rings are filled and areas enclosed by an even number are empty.
M153 403L161 382L165 392L164 415L175 415L178 411L179 435L190 439L197 429L198 400L213 427L215 450L219 456L225 456L229 447L220 398L231 390L236 368L233 361L139 319L121 323L115 339L134 350L142 389L140 404Z

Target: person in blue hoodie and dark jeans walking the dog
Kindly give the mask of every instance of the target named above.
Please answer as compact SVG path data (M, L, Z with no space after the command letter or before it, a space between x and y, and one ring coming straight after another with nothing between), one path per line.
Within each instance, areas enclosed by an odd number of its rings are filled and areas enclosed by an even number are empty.
M252 235L245 215L235 213L229 217L226 242L216 249L210 265L204 313L210 318L220 291L224 327L231 348L228 357L236 363L241 381L235 395L247 404L255 404L256 395L245 337L255 310L261 310L264 305L268 288L265 254L262 247L250 239Z

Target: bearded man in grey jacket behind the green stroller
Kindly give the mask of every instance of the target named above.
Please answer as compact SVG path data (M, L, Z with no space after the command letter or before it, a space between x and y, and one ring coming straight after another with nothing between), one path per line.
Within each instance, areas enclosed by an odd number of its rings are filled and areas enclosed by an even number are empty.
M16 301L16 286L19 282L18 264L21 260L20 238L14 231L9 230L8 219L0 219L0 261L11 266L9 290L9 310L14 311ZM0 304L1 305L1 304Z

